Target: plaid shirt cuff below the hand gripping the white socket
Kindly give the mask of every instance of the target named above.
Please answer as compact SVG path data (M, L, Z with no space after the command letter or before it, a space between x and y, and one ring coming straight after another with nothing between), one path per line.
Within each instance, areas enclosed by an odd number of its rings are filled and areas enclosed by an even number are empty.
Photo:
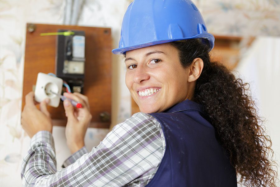
M39 131L37 132L30 141L30 146L32 147L38 142L45 142L52 146L54 149L54 138L49 131Z

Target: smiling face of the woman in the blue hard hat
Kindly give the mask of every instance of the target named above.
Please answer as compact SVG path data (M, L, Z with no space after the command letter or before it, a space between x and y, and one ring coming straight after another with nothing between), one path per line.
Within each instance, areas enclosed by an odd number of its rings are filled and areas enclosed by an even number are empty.
M190 97L189 68L168 43L127 51L125 65L125 83L141 112L163 112Z

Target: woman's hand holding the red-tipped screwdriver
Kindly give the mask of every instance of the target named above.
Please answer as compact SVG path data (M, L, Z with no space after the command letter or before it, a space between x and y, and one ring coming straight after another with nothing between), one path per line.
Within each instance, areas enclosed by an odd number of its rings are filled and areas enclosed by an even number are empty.
M65 97L82 104L82 108L75 108L69 100L63 101L65 114L68 117L65 135L67 146L74 153L85 146L86 130L91 122L91 113L88 98L80 93L64 93Z

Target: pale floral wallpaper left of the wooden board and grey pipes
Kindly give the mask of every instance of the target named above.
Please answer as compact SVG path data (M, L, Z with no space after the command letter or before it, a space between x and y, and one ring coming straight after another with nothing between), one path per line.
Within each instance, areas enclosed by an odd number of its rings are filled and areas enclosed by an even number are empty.
M62 4L0 1L0 186L21 186L21 161L30 141L20 123L26 22L59 23Z

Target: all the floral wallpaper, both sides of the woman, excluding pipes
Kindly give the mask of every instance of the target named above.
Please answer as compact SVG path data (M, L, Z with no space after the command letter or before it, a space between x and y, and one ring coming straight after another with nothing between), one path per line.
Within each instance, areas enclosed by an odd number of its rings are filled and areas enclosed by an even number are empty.
M122 18L130 2L85 0L78 25L112 28L113 47L117 47ZM213 34L280 35L280 0L194 0L194 3ZM0 0L0 187L21 186L21 161L30 142L20 124L26 22L63 24L65 6L66 0ZM113 56L114 123L131 115L122 61L122 57ZM107 129L89 129L88 150L107 133ZM64 127L54 127L53 135L59 169L70 152Z

